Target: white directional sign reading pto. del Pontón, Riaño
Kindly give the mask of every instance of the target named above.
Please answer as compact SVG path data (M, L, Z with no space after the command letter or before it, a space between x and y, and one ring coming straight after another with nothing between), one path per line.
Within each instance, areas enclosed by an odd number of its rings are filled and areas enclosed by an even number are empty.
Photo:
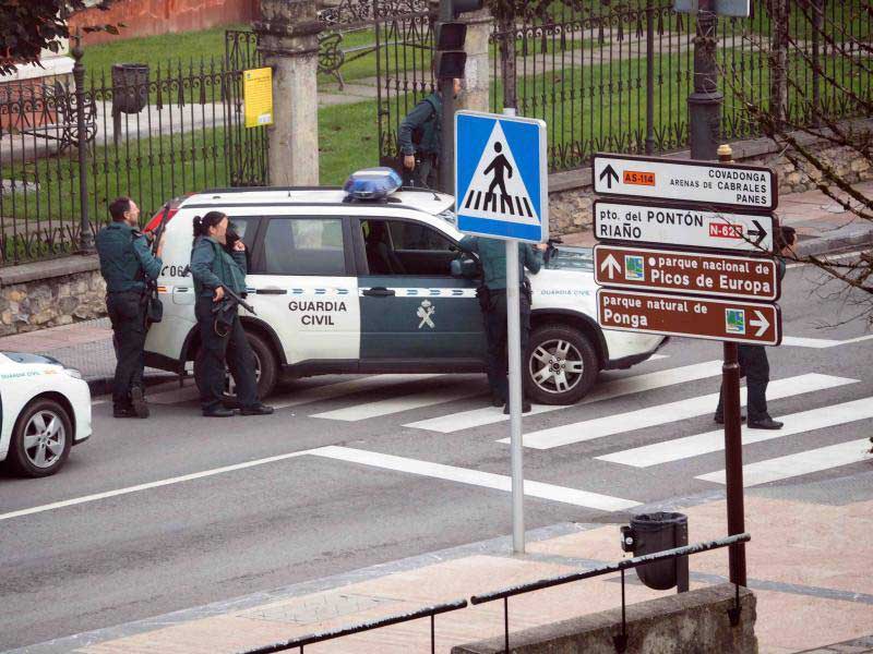
M773 216L709 211L690 205L595 201L594 235L623 244L680 245L769 254Z

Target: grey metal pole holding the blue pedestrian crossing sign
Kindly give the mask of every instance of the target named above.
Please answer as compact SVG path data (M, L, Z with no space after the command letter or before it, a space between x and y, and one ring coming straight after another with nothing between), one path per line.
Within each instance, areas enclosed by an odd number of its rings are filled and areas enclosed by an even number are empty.
M515 109L503 109L515 116ZM510 363L510 451L512 467L512 548L525 552L525 473L522 453L522 302L518 241L506 241L506 346Z

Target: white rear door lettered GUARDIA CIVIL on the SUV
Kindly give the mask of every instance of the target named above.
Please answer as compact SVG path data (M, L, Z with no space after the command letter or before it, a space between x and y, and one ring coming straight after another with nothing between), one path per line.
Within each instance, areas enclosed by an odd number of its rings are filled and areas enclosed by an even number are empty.
M276 332L290 365L357 366L360 312L348 229L343 216L262 219L246 283L258 317Z

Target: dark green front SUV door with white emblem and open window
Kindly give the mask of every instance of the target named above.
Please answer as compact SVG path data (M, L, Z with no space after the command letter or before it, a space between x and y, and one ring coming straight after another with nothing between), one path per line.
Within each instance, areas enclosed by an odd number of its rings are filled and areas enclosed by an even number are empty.
M482 361L477 282L451 275L456 243L407 218L361 218L352 229L363 259L361 364L395 361L403 367L428 360L466 367Z

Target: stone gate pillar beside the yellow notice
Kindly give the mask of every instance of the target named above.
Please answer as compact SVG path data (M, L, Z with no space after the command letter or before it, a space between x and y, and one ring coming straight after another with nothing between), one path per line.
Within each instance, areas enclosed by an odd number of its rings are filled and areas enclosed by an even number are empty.
M273 69L270 183L319 183L319 33L315 0L260 0L253 27L264 65Z

